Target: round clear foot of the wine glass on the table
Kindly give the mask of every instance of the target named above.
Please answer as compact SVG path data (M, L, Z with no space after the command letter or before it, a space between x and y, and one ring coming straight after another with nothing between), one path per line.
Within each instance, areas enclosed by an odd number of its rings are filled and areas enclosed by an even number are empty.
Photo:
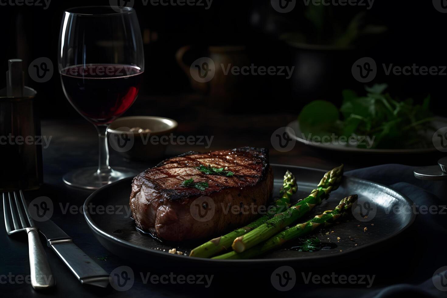
M138 175L138 172L128 168L116 167L110 172L98 174L97 167L76 169L68 172L62 178L67 185L82 189L99 189L104 185L118 180Z

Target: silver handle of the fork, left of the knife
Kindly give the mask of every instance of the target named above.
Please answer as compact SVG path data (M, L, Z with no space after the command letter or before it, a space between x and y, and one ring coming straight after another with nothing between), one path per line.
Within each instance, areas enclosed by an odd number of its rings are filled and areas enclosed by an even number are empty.
M38 229L30 227L28 233L28 247L30 253L31 285L36 290L50 288L55 284L50 264L46 260Z

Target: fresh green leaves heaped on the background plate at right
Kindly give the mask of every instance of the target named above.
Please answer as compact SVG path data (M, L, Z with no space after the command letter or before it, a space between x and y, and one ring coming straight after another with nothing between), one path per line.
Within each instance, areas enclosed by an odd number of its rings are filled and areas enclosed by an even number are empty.
M312 101L298 116L303 136L367 136L372 145L358 142L359 148L403 149L426 148L430 140L424 134L434 130L433 114L429 110L430 96L421 105L412 99L399 101L384 93L387 84L366 87L367 95L358 96L352 90L342 92L342 106L338 109L329 101Z

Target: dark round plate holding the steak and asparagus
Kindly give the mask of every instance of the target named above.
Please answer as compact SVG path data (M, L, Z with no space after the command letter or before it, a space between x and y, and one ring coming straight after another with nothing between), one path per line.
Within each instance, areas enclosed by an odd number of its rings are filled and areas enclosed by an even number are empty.
M293 201L306 197L325 173L323 170L279 164L272 164L272 168L274 171L274 194L278 194L282 186L284 172L287 169L295 174L298 181L298 192L292 198ZM345 255L390 239L409 227L415 218L412 212L406 212L411 210L413 202L401 193L371 181L345 176L340 188L332 192L328 200L323 201L320 206L316 206L307 217L299 220L299 222L304 222L316 214L321 214L324 210L333 209L343 197L358 194L360 205L353 210L354 216L350 215L349 219L316 232L315 235L321 241L320 250L300 252L294 248L300 244L299 241L295 241L286 243L283 248L274 250L258 259L193 258L173 255L168 251L171 248L176 248L177 251L189 254L192 248L209 239L162 243L151 235L137 231L133 219L127 215L130 210L131 181L131 178L123 179L95 191L84 203L84 210L86 210L84 215L93 234L110 252L148 264L160 261L194 262L197 265L244 262L260 264L275 262L278 264L285 260L287 262L312 261ZM114 210L114 212L92 212L91 210L95 210L95 208L89 208L89 206L104 206L105 210L107 210L107 206L114 206L109 207L109 210ZM362 215L360 215L361 208L363 208ZM367 218L363 218L366 214L368 214Z

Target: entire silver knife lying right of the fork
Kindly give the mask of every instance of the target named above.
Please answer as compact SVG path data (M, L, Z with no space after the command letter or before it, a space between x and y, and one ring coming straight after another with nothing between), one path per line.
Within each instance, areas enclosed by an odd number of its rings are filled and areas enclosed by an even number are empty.
M105 288L109 284L109 273L95 263L58 225L49 218L38 223L39 231L50 247L82 284Z

